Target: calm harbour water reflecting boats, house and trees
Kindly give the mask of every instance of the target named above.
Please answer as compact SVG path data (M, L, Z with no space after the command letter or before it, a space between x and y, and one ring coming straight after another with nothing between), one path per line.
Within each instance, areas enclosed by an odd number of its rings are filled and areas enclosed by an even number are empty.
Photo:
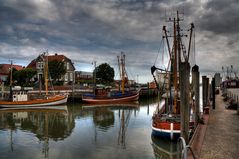
M151 137L156 99L137 105L0 110L0 158L175 158L175 144Z

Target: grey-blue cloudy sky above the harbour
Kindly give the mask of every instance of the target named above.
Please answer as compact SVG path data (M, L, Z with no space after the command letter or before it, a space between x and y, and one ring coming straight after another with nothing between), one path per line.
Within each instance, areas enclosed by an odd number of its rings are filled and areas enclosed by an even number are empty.
M129 77L148 82L150 67L167 61L162 27L176 10L184 13L185 34L195 25L192 65L202 74L231 65L237 72L238 0L0 0L0 63L27 65L48 50L72 59L77 70L106 62L117 75L124 52Z

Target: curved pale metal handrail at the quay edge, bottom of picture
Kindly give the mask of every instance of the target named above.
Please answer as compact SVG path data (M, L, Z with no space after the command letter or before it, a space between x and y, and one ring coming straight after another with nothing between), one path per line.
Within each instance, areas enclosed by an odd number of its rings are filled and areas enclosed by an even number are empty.
M177 159L188 159L188 150L191 151L193 159L196 159L190 145L186 145L185 139L180 137L177 142Z

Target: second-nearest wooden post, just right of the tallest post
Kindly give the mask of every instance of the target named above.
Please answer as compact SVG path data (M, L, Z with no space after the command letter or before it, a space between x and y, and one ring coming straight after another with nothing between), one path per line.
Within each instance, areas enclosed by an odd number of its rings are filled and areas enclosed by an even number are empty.
M197 65L194 65L192 68L192 84L195 96L195 125L198 124L200 110L199 77L199 67Z

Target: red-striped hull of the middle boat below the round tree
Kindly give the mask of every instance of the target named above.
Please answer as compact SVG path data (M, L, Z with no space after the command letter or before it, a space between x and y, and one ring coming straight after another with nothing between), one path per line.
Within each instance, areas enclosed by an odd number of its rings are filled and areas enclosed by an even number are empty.
M130 101L137 101L139 99L139 92L130 96L123 96L117 98L89 98L82 96L82 101L90 104L107 104L107 103L126 103Z

